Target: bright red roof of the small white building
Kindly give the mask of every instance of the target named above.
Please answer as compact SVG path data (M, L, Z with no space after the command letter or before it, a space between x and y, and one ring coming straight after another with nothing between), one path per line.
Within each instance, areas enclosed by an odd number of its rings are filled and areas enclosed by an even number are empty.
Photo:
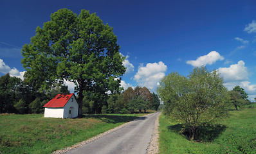
M68 103L68 100L73 95L75 95L75 94L74 93L57 94L57 96L55 96L55 98L51 99L48 103L46 103L46 105L44 105L44 107L50 107L50 108L64 107L66 105L66 103Z

